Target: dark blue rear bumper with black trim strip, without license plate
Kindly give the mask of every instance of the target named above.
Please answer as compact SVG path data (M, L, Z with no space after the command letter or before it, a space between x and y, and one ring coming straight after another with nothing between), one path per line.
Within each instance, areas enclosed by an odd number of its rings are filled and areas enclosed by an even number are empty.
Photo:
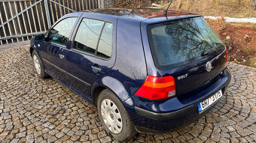
M125 103L127 111L133 120L133 124L139 133L161 133L178 130L193 121L198 120L218 103L215 102L203 113L198 112L197 104L212 96L218 91L224 94L230 83L231 75L224 70L220 79L209 88L195 94L185 100L178 100L176 97L164 101L147 101L142 97L133 96ZM220 100L220 99L219 99ZM133 103L133 105L131 104Z

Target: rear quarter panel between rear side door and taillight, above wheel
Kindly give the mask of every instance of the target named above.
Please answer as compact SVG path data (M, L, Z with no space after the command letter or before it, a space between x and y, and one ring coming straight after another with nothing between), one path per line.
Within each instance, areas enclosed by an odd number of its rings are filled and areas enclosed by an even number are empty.
M114 91L121 101L132 96L147 77L142 46L140 22L125 18L118 19L116 62L108 73L92 85L92 90L97 87L96 83L102 83Z

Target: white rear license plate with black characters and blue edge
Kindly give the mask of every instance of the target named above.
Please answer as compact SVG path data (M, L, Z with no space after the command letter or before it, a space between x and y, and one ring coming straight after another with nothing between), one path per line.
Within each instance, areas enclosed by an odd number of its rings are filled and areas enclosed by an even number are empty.
M201 103L198 103L199 112L200 113L203 112L204 109L206 109L207 107L211 106L212 103L215 103L221 97L222 97L222 92L218 91L216 94L212 95L208 99L204 100Z

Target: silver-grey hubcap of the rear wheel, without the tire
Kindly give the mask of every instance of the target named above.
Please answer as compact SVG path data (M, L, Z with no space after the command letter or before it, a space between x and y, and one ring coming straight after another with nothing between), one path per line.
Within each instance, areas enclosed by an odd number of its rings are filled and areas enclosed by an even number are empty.
M101 113L105 125L112 133L120 133L123 129L123 119L117 106L108 99L102 101Z

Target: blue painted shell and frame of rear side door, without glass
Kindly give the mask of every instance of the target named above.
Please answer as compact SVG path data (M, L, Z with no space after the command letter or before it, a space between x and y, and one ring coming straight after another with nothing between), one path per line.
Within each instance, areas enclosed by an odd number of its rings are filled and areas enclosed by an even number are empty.
M97 15L98 16L95 16L95 13L84 13L81 16L81 19L79 20L72 34L72 41L68 47L69 52L66 55L66 72L67 76L69 77L68 83L72 86L72 88L77 89L87 97L90 97L90 90L93 82L99 77L104 76L108 70L111 70L111 67L114 66L114 61L116 58L116 38L114 37L116 37L117 17L101 16L102 14ZM78 31L78 27L83 18L99 19L101 21L111 22L113 24L113 44L110 59L105 60L97 58L94 55L88 55L85 52L79 52L72 49L76 32ZM95 65L101 69L100 72L93 72L92 66Z

